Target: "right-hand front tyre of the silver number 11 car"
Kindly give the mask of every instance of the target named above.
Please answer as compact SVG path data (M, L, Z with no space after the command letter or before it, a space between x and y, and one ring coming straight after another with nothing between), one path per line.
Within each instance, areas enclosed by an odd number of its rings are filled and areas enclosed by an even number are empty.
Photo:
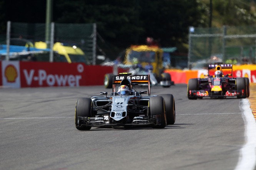
M166 115L165 103L162 96L153 96L149 100L149 112L151 116L156 116L156 125L153 128L165 128ZM160 119L160 120L159 120Z

